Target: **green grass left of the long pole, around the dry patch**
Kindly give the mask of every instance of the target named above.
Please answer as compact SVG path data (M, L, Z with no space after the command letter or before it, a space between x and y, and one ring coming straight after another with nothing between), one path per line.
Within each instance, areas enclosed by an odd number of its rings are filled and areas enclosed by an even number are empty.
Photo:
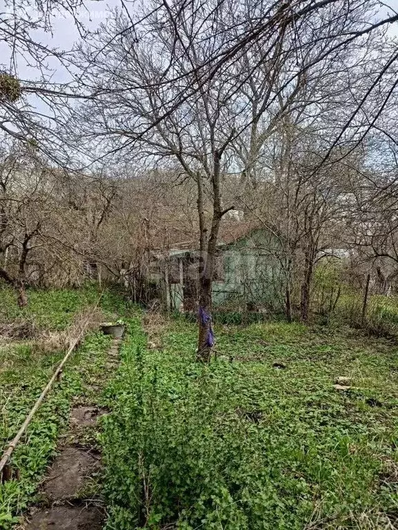
M29 305L18 308L15 293L0 291L0 322L32 322L34 328L57 331L70 324L77 311L98 300L92 288L85 291L30 291ZM15 434L64 356L48 351L35 340L0 343L0 450Z

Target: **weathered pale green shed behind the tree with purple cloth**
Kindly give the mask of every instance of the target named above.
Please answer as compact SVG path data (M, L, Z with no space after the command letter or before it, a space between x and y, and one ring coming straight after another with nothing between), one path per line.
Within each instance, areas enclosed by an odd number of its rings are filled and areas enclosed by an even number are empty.
M245 223L222 230L213 278L215 307L274 310L283 300L278 239L269 230ZM171 310L196 311L200 253L171 248L155 257L152 279L162 284L164 305ZM283 302L282 302L283 303Z

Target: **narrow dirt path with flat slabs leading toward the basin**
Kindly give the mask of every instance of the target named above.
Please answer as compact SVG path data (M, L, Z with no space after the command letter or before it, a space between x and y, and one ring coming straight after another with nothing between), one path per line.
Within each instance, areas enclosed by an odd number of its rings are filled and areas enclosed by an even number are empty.
M121 340L113 340L106 369L119 362ZM96 382L95 393L105 381ZM96 444L97 419L106 414L93 403L79 402L70 412L69 431L59 443L59 453L44 479L42 502L26 514L24 530L100 530L105 513L99 496L101 455Z

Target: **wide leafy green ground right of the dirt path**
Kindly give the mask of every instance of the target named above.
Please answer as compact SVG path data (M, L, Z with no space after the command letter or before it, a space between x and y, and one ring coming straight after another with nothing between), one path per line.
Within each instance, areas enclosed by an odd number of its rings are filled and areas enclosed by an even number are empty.
M217 335L201 366L195 326L149 350L131 322L107 391L106 528L397 528L397 346L298 324Z

